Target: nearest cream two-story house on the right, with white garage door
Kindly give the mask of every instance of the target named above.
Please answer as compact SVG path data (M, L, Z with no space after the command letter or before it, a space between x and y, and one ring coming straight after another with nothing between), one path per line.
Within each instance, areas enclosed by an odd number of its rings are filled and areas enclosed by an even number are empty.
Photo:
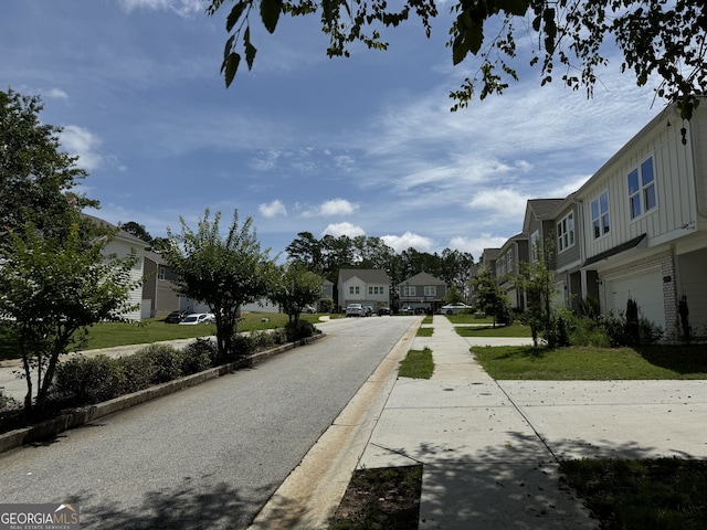
M693 326L707 322L705 106L690 121L661 113L574 193L588 290L593 278L602 310L635 299L668 336L683 296Z

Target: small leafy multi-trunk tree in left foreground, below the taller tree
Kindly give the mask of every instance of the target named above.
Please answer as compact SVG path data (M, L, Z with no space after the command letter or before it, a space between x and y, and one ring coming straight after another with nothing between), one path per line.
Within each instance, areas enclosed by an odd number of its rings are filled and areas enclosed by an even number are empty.
M135 255L103 255L109 241L105 229L95 226L87 242L77 212L65 236L45 236L28 221L22 233L11 230L2 253L0 318L11 330L22 357L28 392L25 414L44 407L54 371L62 354L85 343L87 327L103 320L119 320L130 310L129 293Z

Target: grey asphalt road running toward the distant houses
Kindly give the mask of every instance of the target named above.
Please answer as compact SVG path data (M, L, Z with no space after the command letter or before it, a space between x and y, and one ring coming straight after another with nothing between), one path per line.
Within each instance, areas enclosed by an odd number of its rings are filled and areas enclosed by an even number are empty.
M73 502L86 529L244 529L414 321L324 322L254 369L0 455L0 502Z

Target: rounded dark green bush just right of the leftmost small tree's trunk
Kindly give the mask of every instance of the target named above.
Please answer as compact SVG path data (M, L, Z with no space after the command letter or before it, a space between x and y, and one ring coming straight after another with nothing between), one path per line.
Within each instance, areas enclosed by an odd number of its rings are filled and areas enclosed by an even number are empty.
M50 400L59 406L83 406L120 395L125 374L107 356L72 357L56 367Z

